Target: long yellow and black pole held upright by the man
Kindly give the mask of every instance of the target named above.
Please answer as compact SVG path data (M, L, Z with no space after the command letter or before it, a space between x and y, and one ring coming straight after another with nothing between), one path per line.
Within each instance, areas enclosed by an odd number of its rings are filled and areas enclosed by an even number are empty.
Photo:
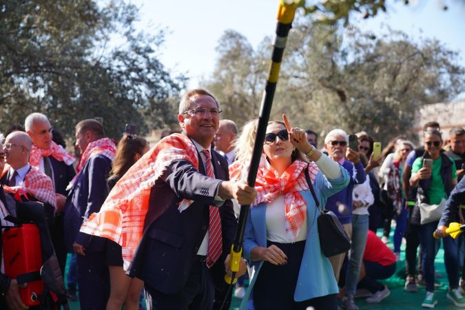
M267 85L265 86L260 106L254 152L252 153L249 175L247 176L247 184L252 187L255 186L258 164L260 163L263 142L265 141L265 133L269 121L269 114L271 112L271 105L273 105L276 83L278 83L282 54L286 47L287 35L289 34L289 30L291 30L296 9L299 6L303 6L303 4L304 1L302 0L280 0L279 3L278 25L276 26L276 37L273 40L273 54L269 65ZM235 276L236 272L239 271L240 256L242 255L242 239L244 237L245 223L249 216L249 209L250 205L242 205L240 207L238 229L236 230L236 237L234 238L234 244L231 247L231 255L229 258L229 269L232 271L232 277L228 275L225 276L225 281L230 285L236 283Z

